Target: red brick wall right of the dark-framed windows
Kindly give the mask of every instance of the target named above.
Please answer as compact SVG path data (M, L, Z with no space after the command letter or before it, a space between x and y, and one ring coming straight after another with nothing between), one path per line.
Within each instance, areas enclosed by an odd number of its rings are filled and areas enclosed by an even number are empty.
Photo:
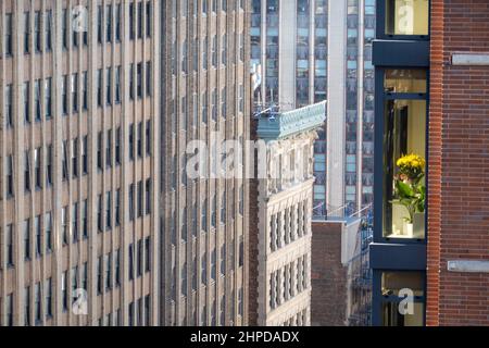
M427 324L489 325L489 274L447 271L489 261L489 66L451 65L489 52L489 1L431 3Z

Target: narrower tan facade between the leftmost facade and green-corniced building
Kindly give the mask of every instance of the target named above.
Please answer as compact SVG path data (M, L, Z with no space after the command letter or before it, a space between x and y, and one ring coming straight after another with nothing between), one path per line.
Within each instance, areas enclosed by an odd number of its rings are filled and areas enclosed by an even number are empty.
M249 2L164 3L161 323L246 325L248 184L243 174L192 179L187 145L248 139ZM221 156L209 153L208 173Z

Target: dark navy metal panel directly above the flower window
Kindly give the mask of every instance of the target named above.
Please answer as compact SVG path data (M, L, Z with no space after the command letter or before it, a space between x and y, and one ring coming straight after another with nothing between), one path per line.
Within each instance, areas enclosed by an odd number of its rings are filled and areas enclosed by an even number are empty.
M429 66L429 41L374 40L372 62L376 66Z

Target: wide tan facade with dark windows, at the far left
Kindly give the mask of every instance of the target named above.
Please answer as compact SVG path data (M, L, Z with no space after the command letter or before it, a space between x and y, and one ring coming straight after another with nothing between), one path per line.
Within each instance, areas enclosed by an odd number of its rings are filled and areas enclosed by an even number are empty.
M158 323L158 1L2 1L2 325Z

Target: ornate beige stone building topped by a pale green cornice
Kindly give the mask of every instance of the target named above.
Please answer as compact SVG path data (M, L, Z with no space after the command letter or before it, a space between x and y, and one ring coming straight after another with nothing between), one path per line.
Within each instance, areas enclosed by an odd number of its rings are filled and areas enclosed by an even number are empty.
M266 178L250 195L258 200L251 211L258 226L250 226L250 239L258 239L250 246L250 278L258 279L251 323L311 324L314 140L325 114L319 103L255 122L258 139L266 142Z

